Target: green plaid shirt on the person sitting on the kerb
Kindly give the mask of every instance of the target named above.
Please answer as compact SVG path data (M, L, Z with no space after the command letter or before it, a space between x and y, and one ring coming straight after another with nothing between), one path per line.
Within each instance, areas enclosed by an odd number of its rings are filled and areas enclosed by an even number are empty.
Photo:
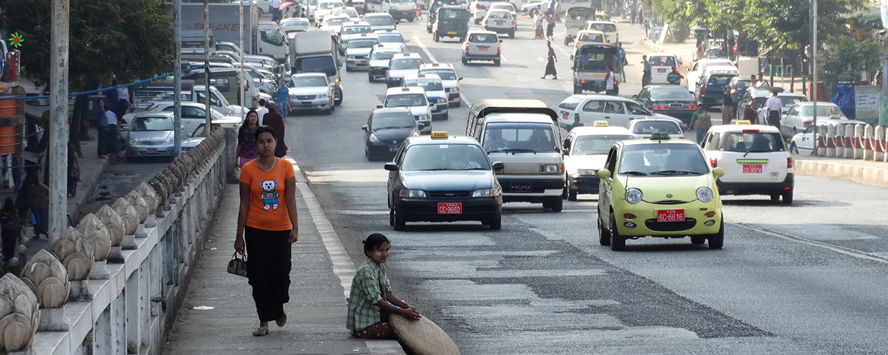
M364 264L358 267L358 272L352 279L352 291L348 298L348 319L345 327L353 332L364 330L380 321L377 302L383 299L379 285L382 284L384 292L392 291L388 274L385 272L385 264L377 266L369 257Z

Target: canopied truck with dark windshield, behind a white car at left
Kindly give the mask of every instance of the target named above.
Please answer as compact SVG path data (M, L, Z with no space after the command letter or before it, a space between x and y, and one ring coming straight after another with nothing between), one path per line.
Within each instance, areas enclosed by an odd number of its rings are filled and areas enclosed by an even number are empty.
M324 73L333 88L334 105L342 104L339 48L333 35L327 31L299 32L290 38L291 74Z

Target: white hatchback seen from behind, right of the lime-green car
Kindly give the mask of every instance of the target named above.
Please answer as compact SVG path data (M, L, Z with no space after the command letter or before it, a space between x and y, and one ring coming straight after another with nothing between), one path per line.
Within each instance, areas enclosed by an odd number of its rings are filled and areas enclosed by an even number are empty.
M701 146L710 165L725 170L718 193L765 194L771 201L782 197L783 204L792 203L792 156L777 128L749 121L713 126Z

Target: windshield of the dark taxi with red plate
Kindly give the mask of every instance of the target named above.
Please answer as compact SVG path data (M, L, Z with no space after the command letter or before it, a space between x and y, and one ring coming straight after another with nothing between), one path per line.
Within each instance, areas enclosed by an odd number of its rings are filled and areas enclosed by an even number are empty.
M490 170L488 157L480 146L433 144L410 146L400 170Z

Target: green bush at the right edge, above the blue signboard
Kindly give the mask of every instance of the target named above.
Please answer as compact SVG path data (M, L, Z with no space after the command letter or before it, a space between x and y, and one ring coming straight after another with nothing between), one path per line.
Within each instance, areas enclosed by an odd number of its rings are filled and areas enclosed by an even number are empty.
M852 36L833 36L831 47L822 64L827 83L859 82L861 73L872 75L881 67L882 46L872 41L858 41Z

